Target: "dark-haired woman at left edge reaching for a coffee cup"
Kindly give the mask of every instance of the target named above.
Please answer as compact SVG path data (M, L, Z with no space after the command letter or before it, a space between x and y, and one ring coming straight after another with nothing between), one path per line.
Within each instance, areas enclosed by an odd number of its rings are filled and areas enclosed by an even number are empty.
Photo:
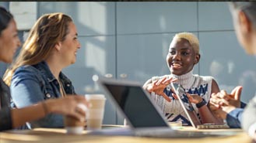
M0 7L0 19L0 61L11 63L16 49L21 46L16 22L12 14L2 7ZM38 120L47 114L65 114L78 120L85 120L85 112L78 107L79 104L87 104L84 97L68 96L61 99L41 101L31 106L11 109L10 93L9 87L0 79L0 131L17 128L27 121ZM33 94L33 96L37 95L38 93ZM26 97L26 94L21 92L19 96Z

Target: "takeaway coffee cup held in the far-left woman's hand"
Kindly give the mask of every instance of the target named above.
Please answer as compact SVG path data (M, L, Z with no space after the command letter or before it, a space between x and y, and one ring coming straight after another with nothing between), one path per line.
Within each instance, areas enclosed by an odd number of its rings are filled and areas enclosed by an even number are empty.
M87 107L83 104L79 104L78 107L84 111L87 111ZM65 116L64 124L67 134L82 134L86 122L79 121L75 117Z

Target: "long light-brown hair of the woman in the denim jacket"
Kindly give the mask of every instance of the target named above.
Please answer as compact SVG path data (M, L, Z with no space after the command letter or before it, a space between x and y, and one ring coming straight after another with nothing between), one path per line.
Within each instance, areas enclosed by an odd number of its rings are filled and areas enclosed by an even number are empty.
M42 15L30 30L19 56L6 70L5 83L11 84L13 73L19 66L34 65L45 60L54 46L65 40L69 22L72 22L72 18L61 12Z

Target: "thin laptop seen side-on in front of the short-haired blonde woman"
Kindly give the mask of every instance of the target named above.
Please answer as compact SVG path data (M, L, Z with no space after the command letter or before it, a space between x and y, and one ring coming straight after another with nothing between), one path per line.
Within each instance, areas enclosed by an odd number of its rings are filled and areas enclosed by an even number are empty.
M181 103L185 114L187 115L191 125L194 128L198 129L214 129L214 128L230 128L227 124L202 124L198 118L198 115L195 112L194 107L191 102L188 100L187 94L181 84L171 83L171 87L174 90L174 93L177 95L178 100Z

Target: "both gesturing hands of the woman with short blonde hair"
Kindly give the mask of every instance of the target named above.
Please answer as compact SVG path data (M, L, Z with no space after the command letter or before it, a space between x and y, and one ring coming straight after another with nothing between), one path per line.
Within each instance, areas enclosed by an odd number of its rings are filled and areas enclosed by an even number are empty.
M173 77L170 77L170 76L164 76L160 80L154 80L151 83L146 83L143 87L144 89L148 90L149 93L154 92L155 94L162 96L165 100L170 102L171 101L170 97L168 97L167 94L165 94L163 91L167 87L167 85L169 85L174 81L177 81L177 79L174 79ZM171 90L173 91L172 96L174 97L174 99L177 99L177 95L174 94L174 90L173 89ZM202 97L200 97L198 94L188 94L188 93L186 94L188 96L188 100L190 100L191 103L198 104L202 102Z

